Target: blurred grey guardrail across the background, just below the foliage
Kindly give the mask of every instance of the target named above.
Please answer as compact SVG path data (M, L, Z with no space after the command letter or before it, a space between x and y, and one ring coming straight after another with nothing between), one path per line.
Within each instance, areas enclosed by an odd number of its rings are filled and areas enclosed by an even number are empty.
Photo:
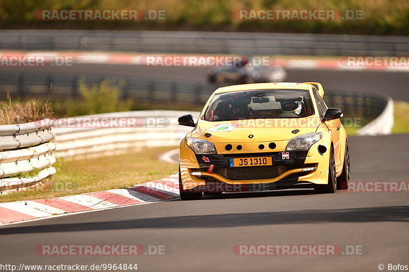
M405 56L409 37L185 31L0 31L0 49L246 55Z

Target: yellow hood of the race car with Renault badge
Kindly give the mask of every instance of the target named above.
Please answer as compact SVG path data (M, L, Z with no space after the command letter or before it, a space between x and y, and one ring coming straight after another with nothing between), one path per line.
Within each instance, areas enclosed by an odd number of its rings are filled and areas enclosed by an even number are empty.
M298 130L298 132L297 132ZM290 140L315 132L316 126L308 118L250 119L233 121L199 120L191 137L210 140L213 143L261 142ZM205 134L211 134L206 137Z

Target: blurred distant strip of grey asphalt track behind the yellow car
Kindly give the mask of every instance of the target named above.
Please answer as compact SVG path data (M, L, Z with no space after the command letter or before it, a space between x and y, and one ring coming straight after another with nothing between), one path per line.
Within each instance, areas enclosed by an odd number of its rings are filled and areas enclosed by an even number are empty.
M24 72L33 74L104 75L139 77L148 79L172 79L206 82L203 67L146 67L139 65L73 64L59 67L1 67L2 73ZM375 92L391 96L393 100L409 101L406 87L409 73L384 71L339 71L339 70L287 70L288 82L321 82L327 90L351 92Z

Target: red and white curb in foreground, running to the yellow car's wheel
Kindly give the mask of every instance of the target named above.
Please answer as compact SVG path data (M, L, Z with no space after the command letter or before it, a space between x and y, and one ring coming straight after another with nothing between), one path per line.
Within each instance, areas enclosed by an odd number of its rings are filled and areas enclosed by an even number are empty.
M141 205L179 196L178 176L145 182L127 189L113 189L52 199L0 203L0 226L47 218L66 213L97 211L129 205Z

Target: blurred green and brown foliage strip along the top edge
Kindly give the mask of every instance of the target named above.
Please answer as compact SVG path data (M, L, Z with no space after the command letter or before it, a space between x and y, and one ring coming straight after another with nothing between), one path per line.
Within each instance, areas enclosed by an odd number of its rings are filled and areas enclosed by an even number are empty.
M165 20L41 21L40 9L165 10ZM236 20L239 9L362 10L362 20ZM0 1L6 29L155 29L409 35L407 0L15 0Z

